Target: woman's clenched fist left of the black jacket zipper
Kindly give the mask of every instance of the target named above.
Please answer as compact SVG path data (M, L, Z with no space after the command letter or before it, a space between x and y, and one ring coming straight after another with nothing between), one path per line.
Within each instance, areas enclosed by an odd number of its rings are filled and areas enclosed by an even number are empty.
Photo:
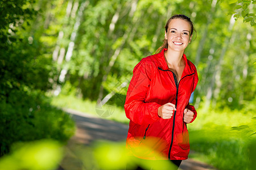
M158 116L162 117L163 119L168 119L172 117L176 111L175 105L172 103L167 103L158 108Z

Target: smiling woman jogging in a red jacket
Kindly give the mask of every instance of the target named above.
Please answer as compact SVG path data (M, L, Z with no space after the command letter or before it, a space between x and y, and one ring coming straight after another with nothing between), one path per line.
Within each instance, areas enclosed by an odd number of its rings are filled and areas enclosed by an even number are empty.
M187 16L172 16L158 53L143 58L134 67L125 101L125 113L130 119L126 147L131 156L171 160L177 167L188 158L187 124L197 116L188 101L198 76L184 50L191 42L193 29ZM141 151L144 147L150 151Z

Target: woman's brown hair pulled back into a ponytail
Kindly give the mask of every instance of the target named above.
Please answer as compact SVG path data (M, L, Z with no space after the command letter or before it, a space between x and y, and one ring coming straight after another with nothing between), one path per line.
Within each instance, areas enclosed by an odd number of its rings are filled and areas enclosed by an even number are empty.
M170 19L168 19L168 21L166 23L166 26L164 27L166 29L166 32L168 31L169 23L171 22L172 19L183 19L186 22L188 22L191 26L190 36L192 36L193 31L195 30L194 25L193 25L191 19L188 16L182 15L182 14L173 15ZM168 41L166 39L163 40L163 44L156 50L155 53L160 53L164 48L168 48Z

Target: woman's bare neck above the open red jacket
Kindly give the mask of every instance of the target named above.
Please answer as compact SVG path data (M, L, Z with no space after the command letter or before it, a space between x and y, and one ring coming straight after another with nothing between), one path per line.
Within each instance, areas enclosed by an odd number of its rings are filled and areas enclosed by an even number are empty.
M164 52L164 57L166 57L166 61L168 65L172 65L172 66L180 66L183 65L183 54L184 51L182 52L175 52L175 51L171 51L171 50L166 50Z

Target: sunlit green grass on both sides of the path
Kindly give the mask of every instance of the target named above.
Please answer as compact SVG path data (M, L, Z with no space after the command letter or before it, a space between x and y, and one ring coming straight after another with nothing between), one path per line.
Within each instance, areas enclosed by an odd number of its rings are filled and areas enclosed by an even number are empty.
M53 97L52 105L129 123L121 107L96 107L96 102L81 100L72 95ZM196 120L188 124L189 141L193 150L189 158L211 164L218 169L253 169L256 146L255 135L251 135L255 133L253 113L243 114L230 109L221 112L197 109L197 112ZM234 126L238 128L232 130Z

